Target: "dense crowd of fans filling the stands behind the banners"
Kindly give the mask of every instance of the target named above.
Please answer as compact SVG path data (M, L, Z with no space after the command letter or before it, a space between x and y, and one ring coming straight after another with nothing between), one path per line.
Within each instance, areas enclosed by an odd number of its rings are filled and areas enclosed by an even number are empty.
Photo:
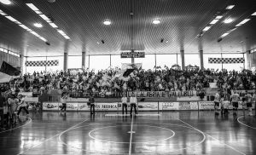
M200 91L210 83L218 83L218 89L255 89L253 72L221 72L207 70L180 71L166 67L155 70L133 70L127 77L119 74L121 69L108 68L102 71L84 72L33 72L10 83L1 83L2 92L18 94L20 89L44 93L48 89L68 92L125 92L125 91Z

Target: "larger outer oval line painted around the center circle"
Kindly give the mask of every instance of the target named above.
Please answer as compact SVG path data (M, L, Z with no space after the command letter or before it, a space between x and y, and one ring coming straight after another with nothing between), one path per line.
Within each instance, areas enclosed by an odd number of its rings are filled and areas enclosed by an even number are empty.
M113 123L113 122L110 122L110 123ZM124 122L114 122L114 123L124 123ZM127 122L128 123L128 122ZM136 122L136 123L152 123L152 122ZM104 123L96 123L96 124L101 124L101 125L104 125ZM157 123L156 123L157 124ZM167 151L167 152L142 152L142 153L136 153L136 154L155 154L155 153L170 153L170 152L179 152L179 151L182 151L182 150L186 150L186 149L189 149L191 147L195 147L195 146L198 146L200 145L201 143L203 143L205 140L206 140L206 135L204 134L204 132L202 132L201 130L198 130L198 129L195 129L195 128L191 128L189 126L184 126L184 125L181 125L181 124L170 124L170 123L159 123L159 124L165 124L167 126L178 126L178 127L183 127L183 128L188 128L188 129L193 129L199 133L201 133L201 135L203 135L203 139L199 142L199 143L196 143L194 145L191 145L191 146L187 146L187 147L184 147L184 148L180 148L180 149L177 149L177 150L172 150L172 151ZM84 125L84 126L90 126L89 125ZM81 128L81 127L84 127L84 126L80 126L80 127L76 127L76 128L73 128L73 129L78 129L78 128ZM70 129L71 130L71 129ZM64 134L64 132L62 133ZM61 135L62 135L61 134ZM59 141L61 141L61 143L65 146L71 146L73 147L73 149L77 149L79 151L85 151L85 152L94 152L94 153L100 153L100 154L124 154L124 155L127 155L127 153L124 153L124 152L96 152L96 151L91 151L91 150L86 150L86 149L83 149L83 148L79 148L77 146L73 146L73 145L68 145L67 143L65 143L64 141L61 140L61 135L59 135ZM166 144L157 144L157 145L165 145Z

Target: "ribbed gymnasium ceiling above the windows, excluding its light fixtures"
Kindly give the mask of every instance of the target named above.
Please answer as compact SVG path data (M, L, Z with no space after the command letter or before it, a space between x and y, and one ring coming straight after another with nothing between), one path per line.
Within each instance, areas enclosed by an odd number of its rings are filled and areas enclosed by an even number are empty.
M256 47L255 0L11 0L0 3L0 9L47 39L47 45L14 22L0 15L0 46L21 55L119 55L131 49L148 54L241 53ZM33 3L50 16L65 39L55 28L38 16L26 3ZM226 7L234 4L233 9ZM133 14L131 17L131 13ZM224 17L202 37L196 37L214 19ZM231 18L233 22L225 24ZM246 24L217 42L241 20ZM111 25L103 25L110 20ZM160 20L154 25L153 20ZM42 28L33 26L41 23ZM160 40L163 39L163 43ZM102 40L104 43L102 43ZM168 41L166 43L166 41Z

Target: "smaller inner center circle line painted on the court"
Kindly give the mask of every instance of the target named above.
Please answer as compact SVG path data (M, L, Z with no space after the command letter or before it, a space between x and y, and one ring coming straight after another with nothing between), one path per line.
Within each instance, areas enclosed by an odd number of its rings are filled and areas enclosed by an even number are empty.
M103 128L96 128L96 129L93 129L93 130L90 130L89 132L89 136L91 139L93 140L96 140L96 141L104 141L104 142L110 142L110 143L117 143L117 144L147 144L147 143L154 143L154 142L159 142L159 141L166 141L166 140L169 140L171 139L174 135L175 135L175 132L172 130L172 129L167 129L167 128L163 128L163 127L159 127L159 126L152 126L152 125L136 125L137 127L140 127L140 126L147 126L147 127L153 127L153 128L159 128L159 129L166 129L166 130L169 130L172 132L172 135L168 138L165 138L165 139L162 139L162 140L157 140L157 141L146 141L146 142L118 142L118 141L106 141L106 140L101 140L101 139L96 139L95 137L93 137L90 133L96 131L97 129L106 129L106 128L111 128L111 127L117 127L117 126L130 126L130 125L115 125L115 126L107 126L107 127L103 127ZM83 127L83 126L81 126ZM78 127L78 128L81 128L81 127ZM78 129L78 128L74 128L74 129ZM129 131L131 132L131 131Z

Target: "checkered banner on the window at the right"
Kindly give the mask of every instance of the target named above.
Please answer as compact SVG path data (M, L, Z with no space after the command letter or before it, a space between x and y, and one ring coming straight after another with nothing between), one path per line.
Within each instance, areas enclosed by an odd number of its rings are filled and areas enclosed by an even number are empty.
M210 64L238 64L244 63L244 58L209 58L208 62Z

